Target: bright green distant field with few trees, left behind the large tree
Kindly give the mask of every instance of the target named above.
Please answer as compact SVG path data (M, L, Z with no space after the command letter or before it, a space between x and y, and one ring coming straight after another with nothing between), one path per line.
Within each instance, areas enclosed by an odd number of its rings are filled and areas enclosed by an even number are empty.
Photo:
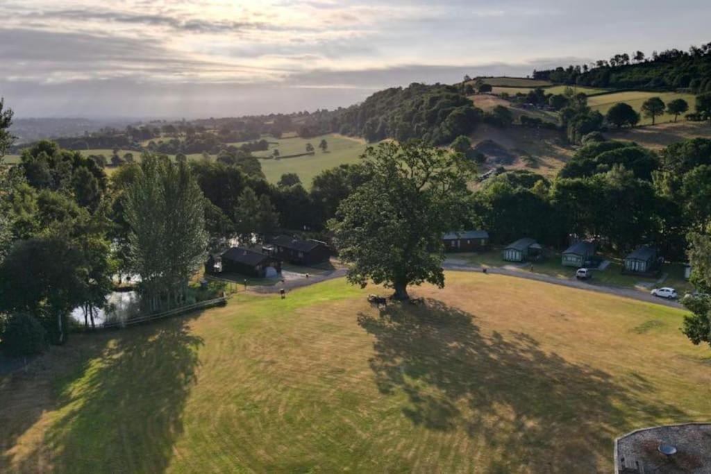
M328 142L328 151L326 153L321 152L321 149L318 148L321 139L326 139L326 142ZM269 139L269 141L275 141L278 144L269 145L269 150L267 151L256 151L254 153L255 156L269 156L274 149L278 149L282 156L305 153L307 143L311 143L314 146L316 153L311 156L261 160L262 171L264 171L264 175L267 176L267 181L270 183L277 183L284 173L296 173L306 188L311 187L311 181L314 176L321 173L321 171L345 163L358 163L358 159L365 151L366 146L365 141L361 139L353 139L338 134L317 136L313 139L295 137L278 140Z

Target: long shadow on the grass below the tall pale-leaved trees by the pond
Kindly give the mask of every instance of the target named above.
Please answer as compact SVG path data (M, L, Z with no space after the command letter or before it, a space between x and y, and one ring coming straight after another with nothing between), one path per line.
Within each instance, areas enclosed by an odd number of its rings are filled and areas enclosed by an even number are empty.
M71 341L82 345L81 359L60 379L49 408L62 413L45 432L41 449L47 452L15 460L18 470L36 471L47 460L59 472L166 470L203 344L188 331L198 316Z

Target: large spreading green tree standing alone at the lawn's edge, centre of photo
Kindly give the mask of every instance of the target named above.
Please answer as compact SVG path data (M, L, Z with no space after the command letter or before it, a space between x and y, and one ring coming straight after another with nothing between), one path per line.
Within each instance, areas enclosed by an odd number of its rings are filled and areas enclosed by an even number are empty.
M407 299L407 286L444 286L442 234L465 214L471 161L419 141L366 149L372 178L343 200L329 223L348 281L369 280Z

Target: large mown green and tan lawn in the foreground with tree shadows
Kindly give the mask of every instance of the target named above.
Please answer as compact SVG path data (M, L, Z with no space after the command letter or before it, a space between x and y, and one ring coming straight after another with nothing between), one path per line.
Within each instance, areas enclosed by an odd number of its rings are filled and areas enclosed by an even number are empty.
M0 379L0 470L597 473L619 434L711 416L680 310L491 274L372 291L76 335Z

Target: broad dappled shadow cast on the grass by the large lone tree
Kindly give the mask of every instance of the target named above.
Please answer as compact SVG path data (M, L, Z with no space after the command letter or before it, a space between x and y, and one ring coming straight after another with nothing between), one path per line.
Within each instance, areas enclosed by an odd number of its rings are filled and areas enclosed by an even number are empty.
M683 411L540 349L524 333L483 335L470 313L428 299L393 304L358 323L375 337L370 367L385 394L403 391L403 413L437 431L464 429L493 459L483 472L598 472L612 440L631 426Z

